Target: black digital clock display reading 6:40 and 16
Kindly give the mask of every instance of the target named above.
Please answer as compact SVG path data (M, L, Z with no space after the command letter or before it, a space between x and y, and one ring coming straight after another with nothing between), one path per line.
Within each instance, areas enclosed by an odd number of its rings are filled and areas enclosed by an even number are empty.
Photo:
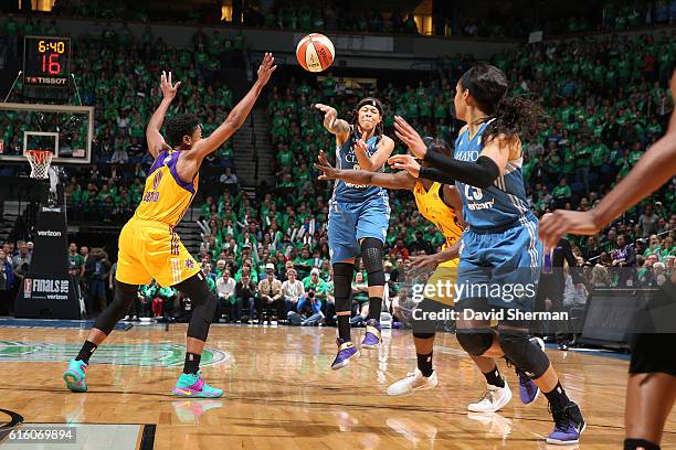
M25 36L23 84L68 87L71 76L71 39Z

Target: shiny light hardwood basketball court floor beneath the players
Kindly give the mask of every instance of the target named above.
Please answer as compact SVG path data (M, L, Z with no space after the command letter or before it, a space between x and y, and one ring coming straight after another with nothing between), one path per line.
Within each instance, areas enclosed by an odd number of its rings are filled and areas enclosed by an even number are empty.
M515 398L499 415L467 414L467 403L480 395L485 382L453 335L437 338L440 385L393 398L387 387L415 364L410 332L385 331L379 351L334 372L334 329L211 330L208 347L220 350L213 361L221 361L203 369L208 382L226 395L181 400L169 392L182 349L170 344L182 344L186 325L171 325L168 332L141 326L115 331L107 342L115 344L113 350L106 353L104 345L92 360L86 394L66 392L61 379L85 330L2 328L0 408L21 414L27 422L157 424L156 449L557 448L542 440L552 427L543 397L534 406L520 405L516 376L501 362ZM355 330L358 339L362 330ZM33 353L14 350L13 355L7 350L30 343L50 345ZM579 448L621 448L627 362L573 352L548 354L589 424ZM676 448L676 415L666 429L663 448Z

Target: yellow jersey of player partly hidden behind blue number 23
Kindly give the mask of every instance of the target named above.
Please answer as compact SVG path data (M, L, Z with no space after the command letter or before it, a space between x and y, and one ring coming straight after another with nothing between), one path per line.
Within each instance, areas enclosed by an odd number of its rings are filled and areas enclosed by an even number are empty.
M439 190L442 189L441 183L432 184L429 191L425 191L422 182L415 182L413 195L415 204L420 213L430 222L432 222L446 238L443 248L448 248L461 238L463 228L457 219L455 210L446 205L439 195Z

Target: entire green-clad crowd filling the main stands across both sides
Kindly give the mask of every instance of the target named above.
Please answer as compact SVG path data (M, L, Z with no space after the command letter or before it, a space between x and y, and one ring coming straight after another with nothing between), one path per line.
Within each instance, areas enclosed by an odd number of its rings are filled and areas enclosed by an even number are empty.
M17 35L25 32L19 25ZM96 159L94 165L71 172L68 204L104 221L119 222L139 202L152 162L145 149L144 125L157 104L155 74L171 67L175 79L184 75L189 82L181 86L170 113L197 114L209 135L232 107L232 90L218 75L243 51L242 42L236 35L198 32L193 47L186 51L168 46L149 29L137 40L124 26L106 25L99 34L73 45L73 72L81 79L83 101L96 107ZM538 216L557 207L592 207L664 133L674 104L666 83L675 55L676 41L669 35L646 34L636 40L584 38L559 45L529 45L493 57L510 78L511 94L536 97L547 111L540 133L524 140L524 173ZM209 161L218 176L207 182L222 183L215 190L218 195L199 200L203 243L196 256L221 298L220 317L331 322L326 226L332 186L317 180L313 162L319 150L330 154L335 143L310 104L329 104L340 117L349 118L357 98L376 95L387 106L387 135L393 136L397 114L421 133L452 144L460 128L452 110L455 81L473 62L469 56L444 58L427 83L388 84L368 93L348 88L331 73L311 83L292 78L271 85L262 100L267 101L272 124L274 189L261 189L257 199L241 192L236 175L232 183L233 148L226 144ZM395 152L405 151L397 143ZM390 204L385 271L391 281L389 293L397 297L411 256L437 251L444 239L419 214L410 193L390 192ZM676 184L663 188L599 236L571 240L580 265L589 267L590 286L626 283L626 279L613 279L611 272L608 281L600 281L606 280L603 270L612 267L635 267L636 278L629 281L633 286L659 282L674 270L676 260ZM12 258L13 276L20 275L13 265L17 254L20 248L4 249L4 257ZM107 260L101 254L96 258ZM96 277L104 281L105 292L105 276L114 272L114 266L102 262L93 270L95 279L87 282L86 290L95 310L102 301ZM358 312L363 315L359 292L356 279L356 317ZM139 304L130 315L187 310L189 300L150 286L140 289Z

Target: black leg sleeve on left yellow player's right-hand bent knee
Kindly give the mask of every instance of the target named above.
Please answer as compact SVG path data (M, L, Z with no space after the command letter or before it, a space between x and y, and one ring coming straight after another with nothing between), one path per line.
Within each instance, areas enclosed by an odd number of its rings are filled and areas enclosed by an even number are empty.
M192 302L192 314L188 324L188 338L207 341L209 326L213 320L218 299L209 290L204 275L198 272L184 281L176 285L176 288L188 296Z

